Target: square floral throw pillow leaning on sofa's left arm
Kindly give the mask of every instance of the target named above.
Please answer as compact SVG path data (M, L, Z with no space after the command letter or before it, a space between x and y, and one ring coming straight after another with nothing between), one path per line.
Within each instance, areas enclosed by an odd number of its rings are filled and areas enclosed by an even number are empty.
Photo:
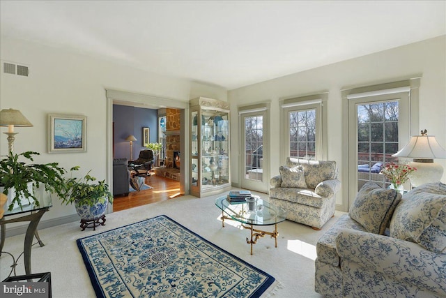
M401 193L398 191L367 182L357 193L348 215L367 232L382 235L400 200Z

